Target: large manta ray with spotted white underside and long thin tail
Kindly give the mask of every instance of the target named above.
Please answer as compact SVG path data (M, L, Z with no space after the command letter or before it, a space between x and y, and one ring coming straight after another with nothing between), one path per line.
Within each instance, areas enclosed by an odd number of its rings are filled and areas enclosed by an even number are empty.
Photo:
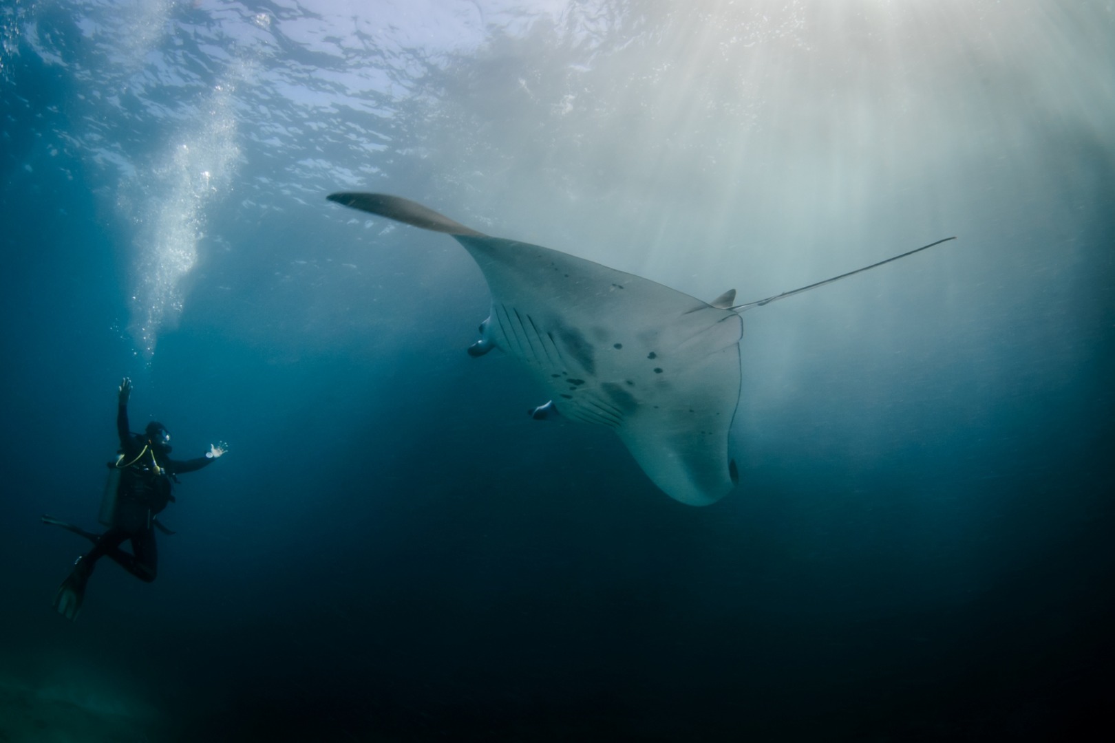
M655 485L690 506L716 502L739 479L728 454L739 400L739 312L946 242L733 305L735 290L702 302L592 261L489 237L398 196L341 193L329 199L452 235L492 293L492 313L469 354L493 348L511 354L552 395L532 416L556 409L611 428Z

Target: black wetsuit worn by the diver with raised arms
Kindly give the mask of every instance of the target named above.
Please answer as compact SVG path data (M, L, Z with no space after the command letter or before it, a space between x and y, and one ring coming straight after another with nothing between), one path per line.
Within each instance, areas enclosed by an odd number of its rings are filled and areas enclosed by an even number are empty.
M200 470L213 459L198 457L176 461L167 456L166 448L148 441L146 437L133 436L128 431L127 405L120 405L116 413L116 430L124 458L119 461L123 467L116 489L113 526L100 535L83 561L91 571L94 564L107 555L135 577L151 583L158 574L154 519L174 500L171 495L172 478ZM130 555L119 548L125 539L132 540Z

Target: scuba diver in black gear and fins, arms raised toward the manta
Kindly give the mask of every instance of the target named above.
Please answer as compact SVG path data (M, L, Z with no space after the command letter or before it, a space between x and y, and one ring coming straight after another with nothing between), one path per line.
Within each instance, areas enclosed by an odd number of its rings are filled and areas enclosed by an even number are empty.
M155 579L158 555L155 549L155 528L173 534L156 519L166 505L174 500L171 495L172 480L176 475L193 472L212 463L225 452L225 444L210 444L204 457L177 461L171 459L171 434L157 421L147 423L143 434L128 430L128 398L132 380L124 378L119 387L119 405L116 413L116 429L120 437L120 456L109 463L115 478L106 489L106 501L101 504L101 522L108 527L104 534L86 531L51 516L43 516L43 524L60 526L89 539L93 549L77 558L69 577L62 580L55 595L55 608L67 619L76 619L85 597L85 585L93 568L101 557L109 557L125 570L145 583ZM120 549L120 545L132 540L132 553Z

